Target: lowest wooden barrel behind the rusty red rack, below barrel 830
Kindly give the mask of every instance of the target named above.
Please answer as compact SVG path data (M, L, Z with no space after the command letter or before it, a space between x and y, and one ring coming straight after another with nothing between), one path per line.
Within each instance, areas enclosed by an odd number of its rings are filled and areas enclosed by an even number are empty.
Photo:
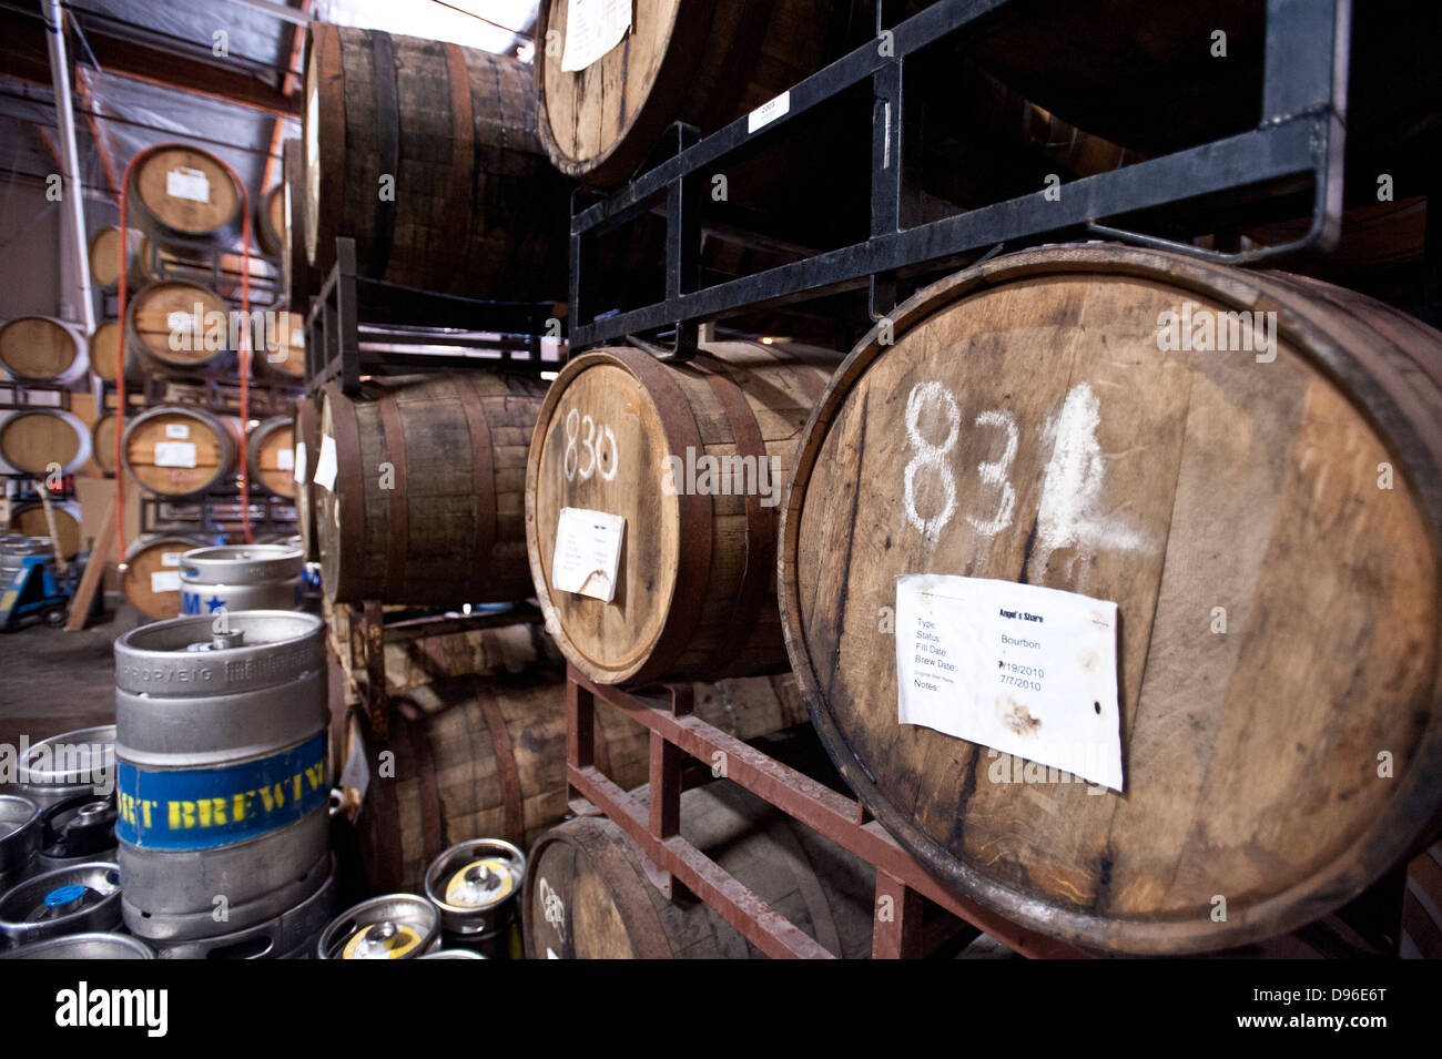
M681 836L832 955L871 955L875 869L836 843L727 781L681 795ZM606 817L542 836L526 862L526 957L763 958L705 902L663 896L637 853Z

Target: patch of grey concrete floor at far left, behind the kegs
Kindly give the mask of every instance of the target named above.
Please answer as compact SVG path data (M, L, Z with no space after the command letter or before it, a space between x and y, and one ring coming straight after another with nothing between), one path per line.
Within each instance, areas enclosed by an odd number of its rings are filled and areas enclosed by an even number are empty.
M19 746L115 720L114 641L146 618L130 604L81 633L30 625L0 633L0 743Z

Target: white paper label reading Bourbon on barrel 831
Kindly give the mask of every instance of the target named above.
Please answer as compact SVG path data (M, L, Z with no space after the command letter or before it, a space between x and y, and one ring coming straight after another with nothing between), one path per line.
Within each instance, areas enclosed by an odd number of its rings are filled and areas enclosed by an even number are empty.
M1116 604L1011 581L897 578L903 725L1122 790Z

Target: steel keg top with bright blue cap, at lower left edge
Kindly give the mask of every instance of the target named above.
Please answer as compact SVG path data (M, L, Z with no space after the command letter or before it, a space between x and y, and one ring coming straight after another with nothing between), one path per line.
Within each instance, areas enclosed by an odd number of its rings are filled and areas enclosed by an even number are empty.
M92 860L32 876L0 896L0 935L13 945L120 926L120 867Z

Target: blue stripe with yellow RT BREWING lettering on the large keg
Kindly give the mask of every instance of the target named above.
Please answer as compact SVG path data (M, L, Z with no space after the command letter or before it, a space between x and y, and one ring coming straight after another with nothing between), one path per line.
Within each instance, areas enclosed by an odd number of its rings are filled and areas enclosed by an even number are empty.
M115 762L115 837L141 849L206 850L275 831L330 798L326 732L226 768L150 772Z

